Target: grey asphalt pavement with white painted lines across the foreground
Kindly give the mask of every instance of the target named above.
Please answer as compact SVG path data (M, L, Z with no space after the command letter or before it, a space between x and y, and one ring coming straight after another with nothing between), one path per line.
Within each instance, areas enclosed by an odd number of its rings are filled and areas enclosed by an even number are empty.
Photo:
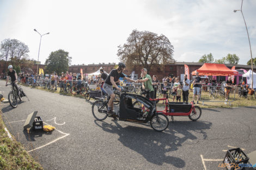
M8 98L10 87L0 80ZM174 117L159 133L149 124L96 121L83 98L22 87L17 108L1 103L3 120L17 141L45 169L224 169L228 149L256 150L256 107L202 109L196 122ZM28 114L38 111L51 133L23 130ZM169 118L170 119L170 118Z

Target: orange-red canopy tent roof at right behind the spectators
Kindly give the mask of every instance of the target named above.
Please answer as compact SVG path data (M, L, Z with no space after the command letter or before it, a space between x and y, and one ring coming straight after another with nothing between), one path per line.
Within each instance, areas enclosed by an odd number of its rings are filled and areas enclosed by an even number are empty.
M236 70L230 70L224 64L214 64L214 63L205 63L198 70L193 71L192 75L196 74L196 71L199 73L199 75L225 76L225 75L237 75L238 74L238 72Z

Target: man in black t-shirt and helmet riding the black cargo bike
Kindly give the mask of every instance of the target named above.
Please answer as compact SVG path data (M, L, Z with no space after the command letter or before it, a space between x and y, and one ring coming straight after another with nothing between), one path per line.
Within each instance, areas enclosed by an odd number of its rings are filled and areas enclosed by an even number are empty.
M125 64L123 62L119 62L118 63L118 67L117 69L113 69L107 76L105 83L103 84L103 89L106 91L106 93L111 97L108 101L108 108L107 108L107 113L112 116L112 117L117 117L117 115L113 112L114 109L114 105L113 105L113 100L115 98L115 94L113 91L113 86L121 91L121 88L117 86L117 84L115 84L116 81L118 81L118 79L120 77L124 78L127 81L131 81L131 82L136 82L135 80L132 80L130 78L125 77L123 71L125 69Z

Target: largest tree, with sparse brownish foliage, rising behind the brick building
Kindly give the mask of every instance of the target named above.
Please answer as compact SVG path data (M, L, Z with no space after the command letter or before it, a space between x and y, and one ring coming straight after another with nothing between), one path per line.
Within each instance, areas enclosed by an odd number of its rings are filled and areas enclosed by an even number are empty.
M126 43L118 46L117 55L127 67L142 65L150 71L151 67L173 63L173 52L173 45L166 36L132 30Z

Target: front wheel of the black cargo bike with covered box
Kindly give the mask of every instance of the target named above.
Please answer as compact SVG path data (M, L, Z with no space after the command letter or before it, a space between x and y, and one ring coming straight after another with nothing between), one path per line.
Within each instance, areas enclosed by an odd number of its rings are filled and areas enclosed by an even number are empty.
M154 115L150 120L151 128L153 128L156 131L163 131L168 128L169 125L169 119L166 115L162 113L157 113Z

